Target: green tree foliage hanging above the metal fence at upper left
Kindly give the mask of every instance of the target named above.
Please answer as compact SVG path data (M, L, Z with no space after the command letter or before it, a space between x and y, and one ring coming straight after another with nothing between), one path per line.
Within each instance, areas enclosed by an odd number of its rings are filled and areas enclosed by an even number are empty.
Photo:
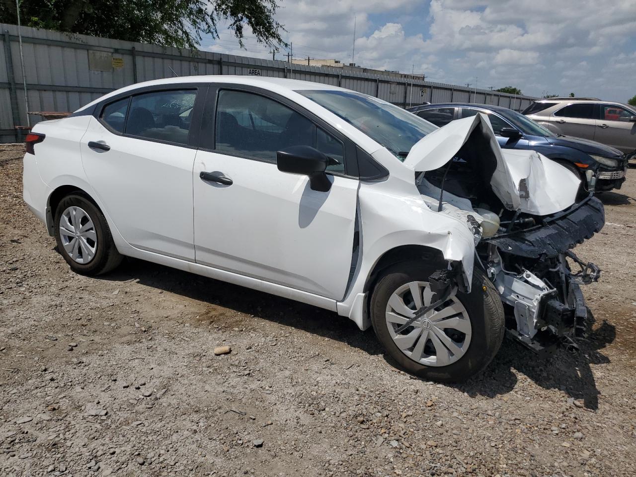
M285 45L276 0L22 0L22 25L69 33L196 48L229 24L243 46L245 26L259 43ZM16 24L15 0L0 0L0 22Z

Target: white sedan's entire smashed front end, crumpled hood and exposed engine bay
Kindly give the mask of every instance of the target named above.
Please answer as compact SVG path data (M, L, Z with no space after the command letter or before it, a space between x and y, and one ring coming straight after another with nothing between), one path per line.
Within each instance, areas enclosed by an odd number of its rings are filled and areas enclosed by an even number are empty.
M499 149L486 121L466 121L465 141L441 166L415 165L417 188L431 210L473 233L476 266L499 291L509 335L536 352L574 345L586 331L580 286L600 270L571 249L604 226L603 205L592 194L577 202L579 179L548 158Z

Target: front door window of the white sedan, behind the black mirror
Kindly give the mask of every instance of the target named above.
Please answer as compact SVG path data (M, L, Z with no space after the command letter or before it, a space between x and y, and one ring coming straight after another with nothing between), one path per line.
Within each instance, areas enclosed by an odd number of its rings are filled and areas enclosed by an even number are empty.
M327 170L345 170L342 142L273 99L221 90L215 122L218 151L276 162L277 151L291 146L311 146L334 160Z

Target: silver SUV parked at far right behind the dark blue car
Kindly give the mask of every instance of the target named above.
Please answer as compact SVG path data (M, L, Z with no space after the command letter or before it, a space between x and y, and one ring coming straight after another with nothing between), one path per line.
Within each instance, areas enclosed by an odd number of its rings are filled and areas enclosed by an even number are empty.
M599 99L549 98L538 100L523 114L556 134L583 137L636 152L636 108Z

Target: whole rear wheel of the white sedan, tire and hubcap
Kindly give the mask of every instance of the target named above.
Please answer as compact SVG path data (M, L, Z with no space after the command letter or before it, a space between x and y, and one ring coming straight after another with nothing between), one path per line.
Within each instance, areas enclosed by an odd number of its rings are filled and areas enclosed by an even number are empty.
M100 275L120 265L104 214L84 195L67 195L55 209L57 248L74 272Z

